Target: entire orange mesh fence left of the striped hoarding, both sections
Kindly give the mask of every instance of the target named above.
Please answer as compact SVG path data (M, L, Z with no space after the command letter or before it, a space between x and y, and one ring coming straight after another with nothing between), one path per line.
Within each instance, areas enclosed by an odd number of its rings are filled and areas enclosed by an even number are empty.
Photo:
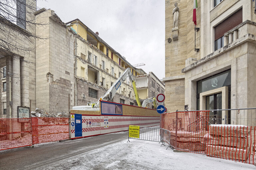
M0 119L0 150L68 138L68 118Z

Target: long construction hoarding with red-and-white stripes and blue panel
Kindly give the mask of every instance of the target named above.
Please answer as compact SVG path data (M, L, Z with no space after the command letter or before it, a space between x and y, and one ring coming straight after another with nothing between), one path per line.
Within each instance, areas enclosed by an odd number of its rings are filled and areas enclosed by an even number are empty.
M92 111L70 111L71 138L124 131L128 130L130 125L151 127L160 124L159 114L153 109L105 101L100 106L100 111L93 114ZM109 106L113 112L105 108ZM114 111L117 111L117 114L113 114Z

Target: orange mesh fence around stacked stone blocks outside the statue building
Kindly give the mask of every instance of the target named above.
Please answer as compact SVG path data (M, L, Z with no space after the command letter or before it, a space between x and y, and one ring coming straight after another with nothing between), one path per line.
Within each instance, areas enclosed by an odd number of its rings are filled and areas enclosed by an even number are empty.
M163 114L171 145L187 152L254 164L255 126L212 124L209 111Z

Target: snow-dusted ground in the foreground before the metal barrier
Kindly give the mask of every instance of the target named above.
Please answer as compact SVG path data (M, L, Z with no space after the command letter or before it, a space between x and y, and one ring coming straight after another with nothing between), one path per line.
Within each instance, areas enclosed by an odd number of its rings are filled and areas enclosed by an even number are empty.
M40 167L41 169L60 170L246 170L255 169L254 165L244 164L202 154L173 152L161 143L130 139L122 140L73 157L59 160ZM81 149L84 150L86 148ZM37 168L37 169L40 169Z

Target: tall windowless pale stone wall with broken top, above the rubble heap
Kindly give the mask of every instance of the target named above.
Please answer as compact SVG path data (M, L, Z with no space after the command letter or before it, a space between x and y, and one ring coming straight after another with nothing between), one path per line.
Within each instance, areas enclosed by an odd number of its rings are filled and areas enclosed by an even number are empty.
M40 13L37 20L48 24L37 28L37 34L47 39L36 46L36 106L48 113L68 112L68 94L74 105L74 35L51 10Z

